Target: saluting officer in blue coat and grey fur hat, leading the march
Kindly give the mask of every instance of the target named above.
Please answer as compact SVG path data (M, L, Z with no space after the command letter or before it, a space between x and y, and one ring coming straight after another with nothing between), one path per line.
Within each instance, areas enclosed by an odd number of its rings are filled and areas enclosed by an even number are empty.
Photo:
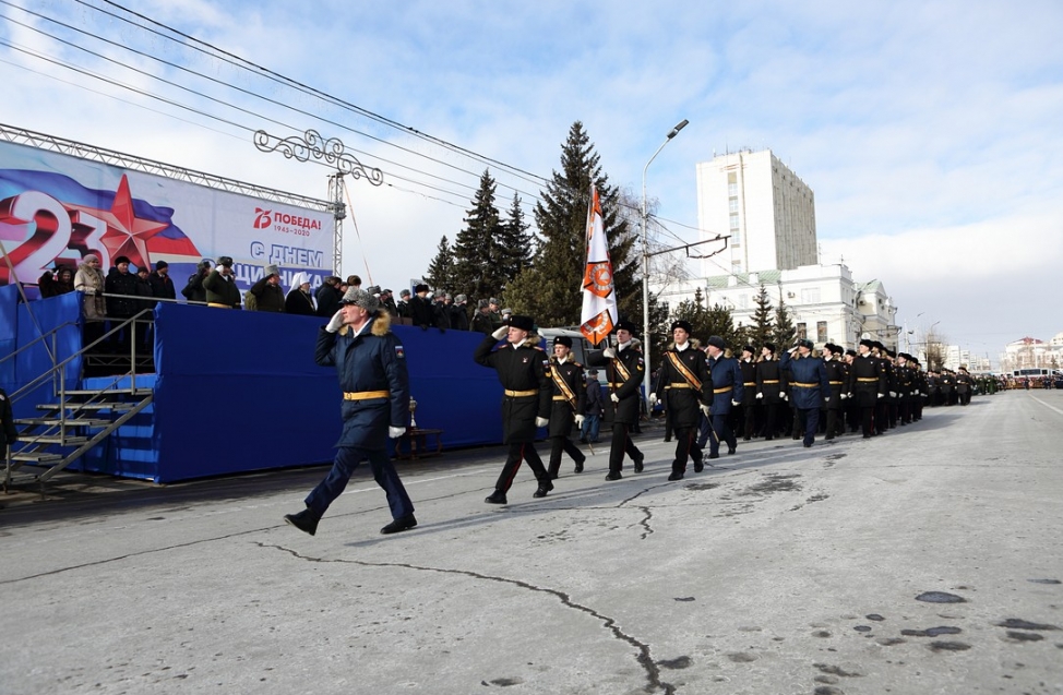
M380 300L363 289L348 289L339 311L318 329L314 361L336 367L339 373L343 434L332 470L307 495L307 508L285 515L284 520L313 536L355 468L368 458L392 515L392 523L380 532L414 528L414 503L387 455L387 440L405 434L409 422L409 375L403 344L392 333L391 315L380 309Z

